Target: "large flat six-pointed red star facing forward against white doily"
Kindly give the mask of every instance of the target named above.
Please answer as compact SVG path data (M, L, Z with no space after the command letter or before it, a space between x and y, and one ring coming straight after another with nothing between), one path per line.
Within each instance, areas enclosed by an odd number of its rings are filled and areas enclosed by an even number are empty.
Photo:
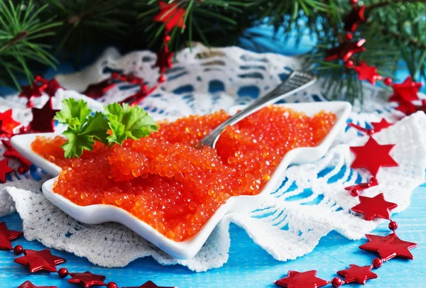
M368 138L364 146L349 147L356 156L351 168L366 168L371 175L376 176L381 167L398 166L391 156L394 147L394 144L380 145L372 137Z

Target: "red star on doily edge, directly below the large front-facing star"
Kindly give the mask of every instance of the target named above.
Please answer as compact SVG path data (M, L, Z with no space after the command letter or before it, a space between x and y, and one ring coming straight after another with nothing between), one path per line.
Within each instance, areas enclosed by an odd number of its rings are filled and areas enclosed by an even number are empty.
M359 204L352 207L352 211L364 214L366 221L376 218L389 218L389 210L396 208L398 205L385 200L383 193L374 197L359 196Z

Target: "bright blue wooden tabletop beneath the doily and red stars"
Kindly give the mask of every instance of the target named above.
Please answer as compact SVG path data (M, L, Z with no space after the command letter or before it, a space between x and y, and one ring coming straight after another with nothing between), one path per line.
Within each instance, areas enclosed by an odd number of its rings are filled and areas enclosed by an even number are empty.
M309 40L307 40L309 42ZM293 48L278 52L290 52ZM306 47L303 48L306 50ZM62 65L60 72L71 72L69 65ZM52 75L52 71L48 74ZM403 75L401 75L403 76ZM0 89L6 92L6 89ZM376 270L378 279L372 279L367 287L426 287L426 185L415 190L411 206L401 214L392 218L398 222L398 236L403 240L415 242L418 247L411 250L415 260L393 259ZM21 218L17 214L1 218L6 221L9 228L20 230ZM390 231L387 223L383 223L373 233L386 235ZM137 287L148 280L152 280L159 286L186 287L275 287L273 281L287 275L288 270L307 271L317 270L318 277L332 279L336 277L338 270L346 269L350 264L369 265L376 257L374 253L368 253L358 248L366 239L359 241L347 240L338 233L329 233L320 240L315 250L300 257L297 260L278 262L259 248L246 235L241 228L231 225L231 248L229 260L219 269L209 270L204 273L195 273L182 266L161 266L151 257L132 262L124 268L107 269L96 267L86 259L70 253L53 250L55 255L67 259L62 265L72 272L91 271L107 276L106 282L114 281L119 287ZM13 245L33 250L43 249L43 245L37 242L28 242L24 238L13 241ZM35 285L58 287L75 287L58 278L55 273L37 273L31 275L26 267L13 262L13 253L0 251L0 287L18 287L26 280L31 280ZM60 266L58 266L60 267ZM329 286L331 287L331 286ZM351 284L348 287L361 287L359 284Z

